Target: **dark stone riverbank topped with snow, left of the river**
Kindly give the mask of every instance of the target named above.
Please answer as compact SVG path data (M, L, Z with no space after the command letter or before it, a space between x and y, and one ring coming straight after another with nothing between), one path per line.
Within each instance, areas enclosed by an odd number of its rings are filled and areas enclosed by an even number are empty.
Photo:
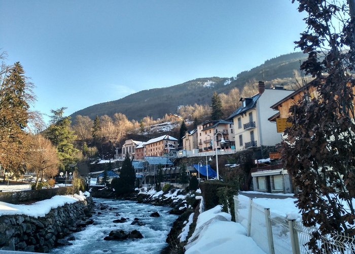
M2 250L48 252L65 244L67 235L92 224L89 193L55 196L31 205L0 202Z

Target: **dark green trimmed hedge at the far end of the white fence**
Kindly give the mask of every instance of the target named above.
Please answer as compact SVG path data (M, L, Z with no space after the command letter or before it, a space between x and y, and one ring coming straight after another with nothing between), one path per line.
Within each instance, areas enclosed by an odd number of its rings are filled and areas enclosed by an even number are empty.
M205 210L209 210L220 204L220 198L217 195L217 189L226 186L226 183L218 180L209 180L200 183Z

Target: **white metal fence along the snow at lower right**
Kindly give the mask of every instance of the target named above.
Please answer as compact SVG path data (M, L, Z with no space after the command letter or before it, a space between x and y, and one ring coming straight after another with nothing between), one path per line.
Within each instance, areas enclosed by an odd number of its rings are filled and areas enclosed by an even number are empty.
M307 242L314 229L306 228L295 220L278 213L270 212L250 199L247 214L239 213L238 196L234 196L235 219L247 231L247 236L253 238L258 246L269 254L304 254L311 253ZM355 238L345 234L336 237L323 238L318 241L322 253L355 253Z

